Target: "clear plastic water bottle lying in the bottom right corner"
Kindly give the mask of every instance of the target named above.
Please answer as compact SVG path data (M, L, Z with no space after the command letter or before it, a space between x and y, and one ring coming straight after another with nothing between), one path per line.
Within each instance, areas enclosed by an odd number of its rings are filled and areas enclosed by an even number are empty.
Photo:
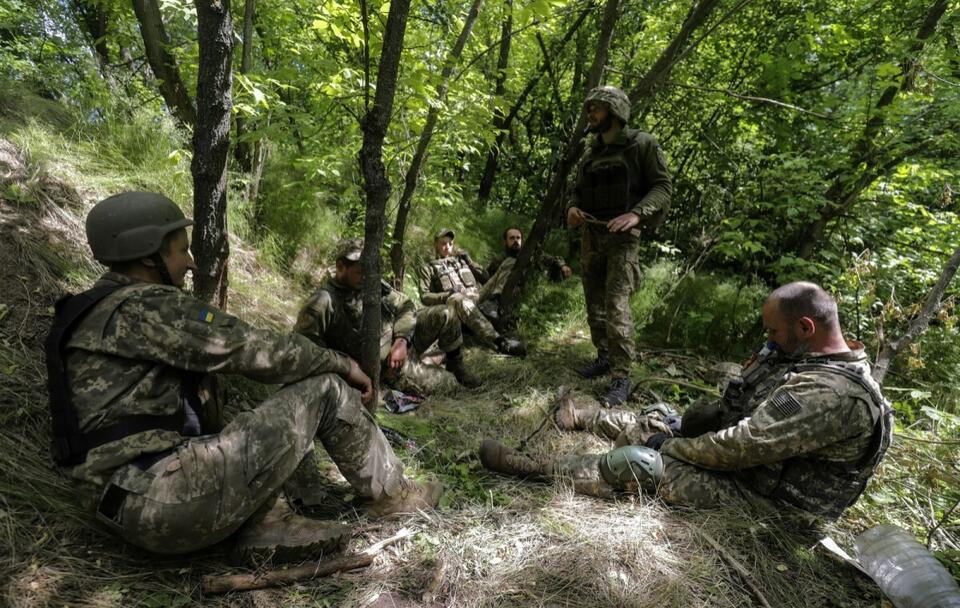
M912 534L890 524L854 543L860 565L897 608L960 608L960 587Z

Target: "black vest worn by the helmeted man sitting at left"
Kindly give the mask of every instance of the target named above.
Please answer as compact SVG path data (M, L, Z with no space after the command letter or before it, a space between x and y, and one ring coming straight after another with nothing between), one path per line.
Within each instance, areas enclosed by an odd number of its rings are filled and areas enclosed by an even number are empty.
M116 425L89 433L80 430L80 421L67 385L64 349L80 320L98 302L121 287L96 287L76 295L66 295L56 303L53 326L47 334L44 350L47 358L47 388L50 392L50 447L54 462L60 466L80 464L86 460L87 452L91 449L127 435L154 429L180 430L183 426L183 414L177 412L170 416L130 416Z

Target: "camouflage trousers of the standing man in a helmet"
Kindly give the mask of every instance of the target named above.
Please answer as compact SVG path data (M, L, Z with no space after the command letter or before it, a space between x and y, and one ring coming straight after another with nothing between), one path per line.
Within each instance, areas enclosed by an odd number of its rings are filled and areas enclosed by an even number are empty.
M630 296L640 283L640 241L629 233L611 234L588 226L580 264L587 324L598 354L610 358L615 378L625 378L636 356Z

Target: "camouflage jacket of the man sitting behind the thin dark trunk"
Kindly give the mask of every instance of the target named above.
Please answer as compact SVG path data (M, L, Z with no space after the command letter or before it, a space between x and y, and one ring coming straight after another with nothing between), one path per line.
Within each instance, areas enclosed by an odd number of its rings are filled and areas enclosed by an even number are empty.
M380 360L386 360L396 338L412 344L417 325L413 302L386 283L380 299ZM296 331L327 348L343 351L359 360L363 292L354 291L328 277L320 285L297 316Z

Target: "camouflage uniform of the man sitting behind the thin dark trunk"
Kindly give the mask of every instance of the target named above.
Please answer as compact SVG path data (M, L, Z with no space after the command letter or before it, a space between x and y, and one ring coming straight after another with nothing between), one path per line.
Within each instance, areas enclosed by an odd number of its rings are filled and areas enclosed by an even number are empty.
M438 342L440 350L454 351L463 344L460 322L446 306L429 306L414 310L407 296L383 284L381 299L380 361L383 378L394 388L420 395L450 391L457 387L453 374L420 361L430 345ZM363 293L328 277L300 310L296 331L319 346L334 348L360 359ZM399 371L386 367L393 341L404 338L409 352Z

